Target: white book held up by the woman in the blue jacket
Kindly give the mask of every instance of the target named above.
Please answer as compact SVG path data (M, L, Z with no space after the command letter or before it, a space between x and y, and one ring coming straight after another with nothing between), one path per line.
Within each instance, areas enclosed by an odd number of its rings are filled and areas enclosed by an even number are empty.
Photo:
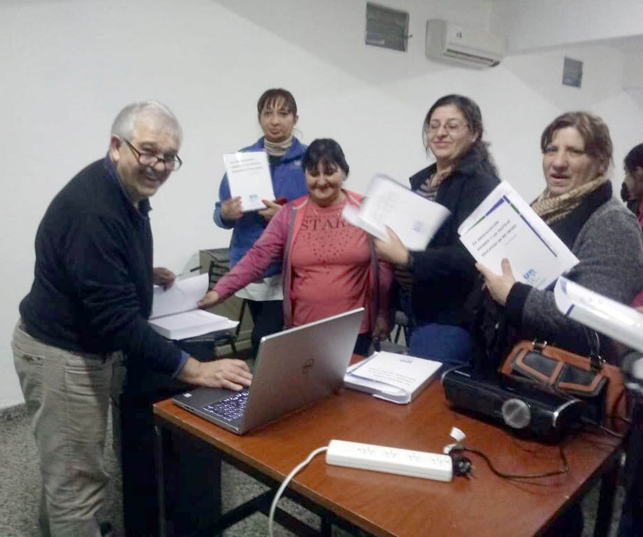
M265 209L261 200L274 200L272 177L265 151L238 151L223 155L230 196L241 196L244 213Z

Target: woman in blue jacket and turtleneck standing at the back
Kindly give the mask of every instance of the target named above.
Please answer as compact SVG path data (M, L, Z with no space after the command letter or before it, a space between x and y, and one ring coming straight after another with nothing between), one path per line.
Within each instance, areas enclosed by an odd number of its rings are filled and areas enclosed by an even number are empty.
M259 98L257 114L264 136L241 151L265 151L268 154L276 200L292 201L304 196L307 191L301 158L306 146L292 134L298 120L294 97L286 89L267 89ZM227 176L223 176L219 201L214 209L214 222L223 229L232 229L230 268L252 247L278 211L280 205L276 200L263 200L267 206L263 211L243 213L241 198L231 198ZM283 327L281 277L280 264L270 264L255 280L236 293L236 296L247 301L252 315L254 355L261 337L278 332Z

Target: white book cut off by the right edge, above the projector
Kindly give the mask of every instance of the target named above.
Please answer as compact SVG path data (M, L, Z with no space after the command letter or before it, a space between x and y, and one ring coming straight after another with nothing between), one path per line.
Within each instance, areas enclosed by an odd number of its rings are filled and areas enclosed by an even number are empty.
M643 313L566 277L558 278L553 296L556 307L570 319L643 352Z

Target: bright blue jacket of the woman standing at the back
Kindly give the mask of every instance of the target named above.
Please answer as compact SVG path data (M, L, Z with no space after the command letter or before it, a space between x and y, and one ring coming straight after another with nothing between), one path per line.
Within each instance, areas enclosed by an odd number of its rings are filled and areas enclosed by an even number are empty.
M297 138L293 138L292 145L287 153L280 158L278 164L276 166L270 165L272 188L276 198L286 198L287 201L292 201L308 193L304 170L301 167L301 157L306 148L307 146L300 143ZM241 149L241 151L263 150L263 138L259 138L253 145ZM261 236L268 223L263 216L256 212L244 213L238 220L223 220L221 218L221 202L229 200L231 197L225 175L218 189L218 197L219 201L216 202L214 208L214 223L223 229L233 229L229 251L230 268L232 268ZM280 272L281 263L275 262L266 269L263 276L272 276Z

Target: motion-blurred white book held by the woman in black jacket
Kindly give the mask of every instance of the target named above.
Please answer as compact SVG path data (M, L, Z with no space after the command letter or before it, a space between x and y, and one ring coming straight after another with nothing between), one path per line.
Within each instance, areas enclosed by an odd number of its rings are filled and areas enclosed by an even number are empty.
M378 239L389 240L388 226L412 251L424 250L449 214L446 207L382 174L371 179L359 210L347 204L343 211L345 220Z

